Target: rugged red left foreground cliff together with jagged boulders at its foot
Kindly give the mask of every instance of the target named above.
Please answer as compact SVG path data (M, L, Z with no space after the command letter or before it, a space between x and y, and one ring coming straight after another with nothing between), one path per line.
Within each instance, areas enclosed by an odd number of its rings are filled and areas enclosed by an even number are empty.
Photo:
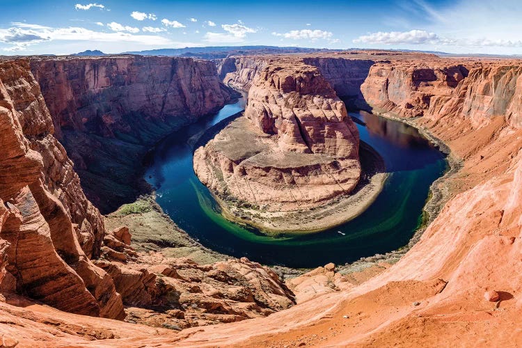
M81 315L129 321L137 315L136 320L152 326L179 319L179 326L171 326L181 329L265 316L293 304L292 292L278 276L255 262L199 265L140 255L129 246L128 228L106 233L100 212L84 196L72 161L53 134L52 116L29 60L1 61L3 308L13 309L6 303L38 307L31 302L37 300ZM123 304L133 307L125 312ZM152 315L156 319L148 320Z

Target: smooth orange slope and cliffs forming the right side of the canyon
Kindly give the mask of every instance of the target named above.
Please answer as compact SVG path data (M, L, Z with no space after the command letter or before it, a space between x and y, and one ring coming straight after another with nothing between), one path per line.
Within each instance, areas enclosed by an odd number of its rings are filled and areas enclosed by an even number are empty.
M443 139L463 162L445 184L448 203L420 242L381 275L248 323L252 331L247 323L216 327L184 345L203 338L221 345L520 345L521 335L509 328L519 324L522 289L512 276L522 232L521 64L390 59L374 65L362 88L374 111ZM289 325L295 317L299 322ZM257 337L238 338L239 330Z

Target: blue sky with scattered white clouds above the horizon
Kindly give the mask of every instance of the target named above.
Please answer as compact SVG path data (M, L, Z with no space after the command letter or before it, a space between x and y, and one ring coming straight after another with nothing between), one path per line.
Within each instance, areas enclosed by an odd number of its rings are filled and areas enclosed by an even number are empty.
M274 45L522 54L521 0L0 0L0 54Z

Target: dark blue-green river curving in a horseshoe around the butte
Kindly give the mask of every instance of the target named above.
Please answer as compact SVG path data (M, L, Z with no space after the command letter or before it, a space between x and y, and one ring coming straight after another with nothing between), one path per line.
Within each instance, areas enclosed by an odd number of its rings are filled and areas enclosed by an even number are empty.
M280 237L262 235L224 219L193 172L189 144L196 134L243 108L242 100L227 105L158 144L145 177L157 187L159 205L180 228L221 253L288 267L344 264L409 242L421 221L429 186L445 171L444 155L415 128L363 111L351 113L365 123L357 125L361 140L381 154L390 173L383 191L363 214L331 230Z

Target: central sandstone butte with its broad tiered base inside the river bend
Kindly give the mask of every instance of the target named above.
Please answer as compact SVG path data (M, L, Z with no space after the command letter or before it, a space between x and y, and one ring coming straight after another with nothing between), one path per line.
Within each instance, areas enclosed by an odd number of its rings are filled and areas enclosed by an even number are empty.
M221 196L273 211L306 209L354 189L358 141L317 68L274 63L253 81L244 117L196 150L194 168Z

